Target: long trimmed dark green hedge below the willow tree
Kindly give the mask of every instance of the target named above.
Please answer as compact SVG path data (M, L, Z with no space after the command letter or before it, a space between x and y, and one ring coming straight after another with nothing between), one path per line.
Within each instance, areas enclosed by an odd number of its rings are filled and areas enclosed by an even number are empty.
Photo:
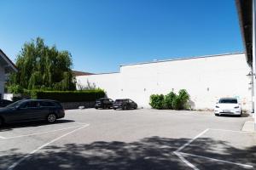
M55 99L60 102L95 101L105 97L102 89L80 91L32 91L32 99Z

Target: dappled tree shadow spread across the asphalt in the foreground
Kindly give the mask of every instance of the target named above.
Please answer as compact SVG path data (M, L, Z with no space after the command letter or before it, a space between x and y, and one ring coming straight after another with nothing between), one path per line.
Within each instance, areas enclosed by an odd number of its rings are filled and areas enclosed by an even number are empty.
M168 139L153 136L131 143L96 141L90 144L49 145L40 152L33 154L29 159L22 161L15 169L190 169L173 154L173 151L188 141L189 139ZM223 148L224 152L217 154L215 151L219 146ZM255 146L241 150L225 141L200 138L198 143L191 144L188 148L193 153L202 156L206 156L204 153L209 153L207 156L213 156L216 159L240 163L250 162L255 166ZM5 156L0 156L0 169L10 166L11 161L17 161L25 156L17 150L9 152L10 154L2 152ZM219 161L193 159L191 157L188 159L201 169L242 169L234 165L230 167L230 164Z

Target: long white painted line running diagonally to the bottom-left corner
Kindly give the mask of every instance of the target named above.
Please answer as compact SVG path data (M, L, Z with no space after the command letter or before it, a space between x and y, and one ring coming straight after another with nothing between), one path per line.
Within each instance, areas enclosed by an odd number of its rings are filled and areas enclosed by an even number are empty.
M90 124L87 124L85 126L82 126L82 127L79 127L79 128L76 128L74 129L73 131L69 132L69 133L65 133L63 135L61 135L60 137L58 138L55 138L51 141L49 141L48 143L46 144L43 144L41 146L39 146L36 150L32 150L32 152L30 152L29 154L27 154L26 156L22 157L20 160L16 161L14 164L12 164L10 167L8 167L7 170L13 170L15 167L17 167L22 161L25 161L28 157L32 156L32 154L36 153L38 150L42 150L45 146L49 145L49 144L52 144L54 143L55 141L59 140L59 139L62 139L64 137L66 137L67 135L71 134L71 133L74 133L76 131L79 131L80 129L82 128L85 128L85 127L89 127Z

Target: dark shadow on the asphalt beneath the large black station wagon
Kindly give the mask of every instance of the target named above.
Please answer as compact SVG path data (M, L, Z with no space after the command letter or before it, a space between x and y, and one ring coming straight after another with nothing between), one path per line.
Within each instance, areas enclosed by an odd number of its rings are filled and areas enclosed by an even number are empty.
M67 122L74 122L73 120L67 120L67 119L58 119L56 122L51 124L61 124L61 123L67 123ZM49 122L46 121L33 121L33 122L17 122L17 123L10 123L10 124L4 124L3 127L0 127L0 132L6 132L11 131L14 128L20 128L20 127L41 127L49 125Z

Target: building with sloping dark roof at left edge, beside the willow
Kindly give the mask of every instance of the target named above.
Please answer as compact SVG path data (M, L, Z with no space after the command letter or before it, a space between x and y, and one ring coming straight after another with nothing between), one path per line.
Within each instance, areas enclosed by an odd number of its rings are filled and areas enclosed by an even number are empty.
M0 99L3 99L4 84L10 72L18 71L15 64L0 49Z

